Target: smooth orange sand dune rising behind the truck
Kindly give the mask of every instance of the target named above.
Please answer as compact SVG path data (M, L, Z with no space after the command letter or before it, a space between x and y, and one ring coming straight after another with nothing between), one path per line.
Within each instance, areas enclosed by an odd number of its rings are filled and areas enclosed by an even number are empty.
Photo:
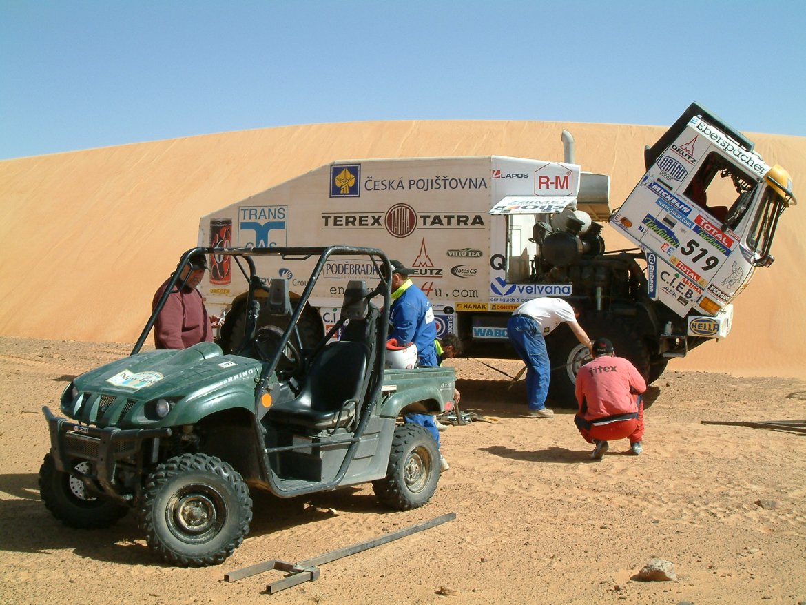
M561 160L563 128L585 170L611 175L617 207L663 127L514 121L311 124L0 161L0 334L131 342L152 293L201 215L330 161L505 155ZM750 135L768 163L806 181L806 138ZM801 207L787 211L771 269L738 299L730 336L671 369L806 377Z

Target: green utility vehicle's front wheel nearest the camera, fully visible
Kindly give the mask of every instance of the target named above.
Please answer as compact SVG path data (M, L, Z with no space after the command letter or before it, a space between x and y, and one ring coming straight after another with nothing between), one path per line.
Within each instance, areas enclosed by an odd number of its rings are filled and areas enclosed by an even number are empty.
M251 498L241 475L205 454L172 457L147 478L140 528L148 548L180 567L217 565L243 542Z

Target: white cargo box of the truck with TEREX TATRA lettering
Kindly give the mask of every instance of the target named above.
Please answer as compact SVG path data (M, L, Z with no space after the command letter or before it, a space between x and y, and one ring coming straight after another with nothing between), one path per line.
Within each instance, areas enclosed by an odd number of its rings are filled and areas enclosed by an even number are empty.
M528 282L534 254L530 202L554 202L562 209L579 190L580 167L559 162L503 156L338 161L202 217L199 244L224 245L211 227L224 221L231 222L231 245L237 247L382 248L416 270L413 281L434 307L438 335L455 332L458 314L471 313L468 336L505 340L505 315L496 318L496 311L511 312L539 295L571 294L570 285ZM509 228L505 216L488 214L502 200L523 208ZM595 219L609 218L606 202L586 208ZM508 237L514 239L509 246ZM336 321L347 280L373 270L366 263L330 262L310 299L325 329ZM288 277L291 290L301 292L305 282ZM520 283L508 283L508 277ZM229 307L247 290L235 268L212 281L219 283L202 286L211 312Z

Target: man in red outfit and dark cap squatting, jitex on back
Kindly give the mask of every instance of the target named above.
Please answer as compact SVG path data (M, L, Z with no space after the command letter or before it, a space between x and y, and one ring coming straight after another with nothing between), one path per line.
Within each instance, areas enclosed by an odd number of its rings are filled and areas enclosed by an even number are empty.
M588 443L596 444L591 458L605 456L609 440L629 438L629 453L642 452L646 382L638 369L616 357L613 343L598 338L592 347L593 361L576 373L576 401L580 411L574 424Z

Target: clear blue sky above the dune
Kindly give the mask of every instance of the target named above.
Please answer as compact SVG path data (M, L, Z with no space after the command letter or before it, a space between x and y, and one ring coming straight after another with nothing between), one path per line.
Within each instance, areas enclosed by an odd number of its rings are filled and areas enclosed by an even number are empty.
M305 123L806 136L806 3L0 0L0 159Z

